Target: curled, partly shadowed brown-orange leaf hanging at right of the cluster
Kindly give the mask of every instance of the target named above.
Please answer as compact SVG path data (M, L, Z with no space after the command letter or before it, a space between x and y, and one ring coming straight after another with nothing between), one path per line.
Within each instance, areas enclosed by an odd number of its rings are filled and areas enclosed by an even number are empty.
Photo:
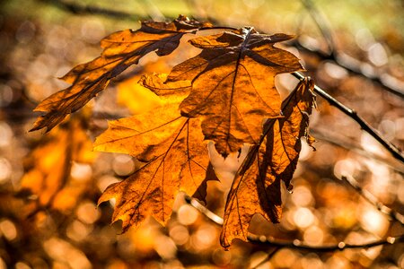
M306 79L282 103L282 118L268 119L260 143L252 146L234 178L224 210L221 244L247 240L250 220L256 213L278 222L282 213L280 181L289 187L312 113L313 82ZM312 138L307 140L312 143Z

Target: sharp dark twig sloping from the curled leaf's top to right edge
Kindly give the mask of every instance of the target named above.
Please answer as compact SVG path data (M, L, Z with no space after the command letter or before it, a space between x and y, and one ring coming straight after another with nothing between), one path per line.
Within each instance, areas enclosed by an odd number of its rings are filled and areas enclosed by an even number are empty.
M305 76L299 72L294 72L292 75L299 79L303 80ZM357 115L356 111L351 108L347 108L344 104L333 98L332 96L329 95L326 91L322 90L319 86L314 85L314 92L320 95L323 99L327 100L331 106L334 106L338 108L341 112L346 114L348 117L351 117L356 121L356 123L361 126L361 128L367 132L368 134L371 134L374 139L376 139L379 143L381 143L384 148L386 148L389 152L391 152L391 155L394 156L397 160L400 160L404 162L404 156L402 155L401 151L392 143L388 142L382 137L382 134L379 134L379 132L374 129L372 126L370 126L367 122L364 121L364 119L360 116Z

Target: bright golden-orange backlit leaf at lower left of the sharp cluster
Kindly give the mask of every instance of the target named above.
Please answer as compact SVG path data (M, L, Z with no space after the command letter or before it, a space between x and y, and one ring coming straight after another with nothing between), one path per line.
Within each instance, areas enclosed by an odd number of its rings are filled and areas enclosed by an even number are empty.
M149 215L165 224L179 191L205 196L200 187L209 179L206 143L198 118L181 117L178 103L110 121L94 149L145 161L132 176L108 187L99 200L101 204L116 199L112 221L122 220L124 231L138 227Z

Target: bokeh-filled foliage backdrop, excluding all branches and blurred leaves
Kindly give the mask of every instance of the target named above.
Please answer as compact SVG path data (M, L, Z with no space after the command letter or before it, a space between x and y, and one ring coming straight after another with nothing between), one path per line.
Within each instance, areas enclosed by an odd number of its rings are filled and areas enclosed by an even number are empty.
M113 9L161 13L205 15L232 26L254 25L268 33L300 34L313 48L326 48L317 26L299 1L86 1ZM143 3L143 2L142 2ZM190 4L189 4L190 3ZM31 109L49 94L66 87L56 77L72 66L100 54L98 41L108 33L138 28L137 22L101 16L74 15L38 1L5 1L0 7L0 266L15 268L133 268L138 266L181 268L207 265L246 267L257 265L270 249L238 243L230 251L218 245L220 228L194 208L174 204L171 221L162 229L146 221L136 232L119 235L119 227L109 226L111 207L95 206L101 191L138 168L126 155L101 154L90 167L87 191L67 212L44 209L30 218L22 212L31 204L16 194L24 175L23 160L40 143L41 134L27 134L33 123ZM270 5L270 7L269 7ZM336 6L338 5L338 6ZM403 80L403 7L400 1L316 1L335 30L338 48L379 72ZM154 16L157 16L154 13ZM300 32L296 30L300 26ZM293 52L296 53L296 50ZM404 144L402 100L382 90L364 77L348 74L332 62L301 54L303 64L317 83L360 115L393 143ZM154 59L150 58L153 62ZM147 66L147 65L145 65ZM150 69L153 70L153 69ZM164 72L164 71L158 71ZM286 95L293 89L290 77L277 77L278 88ZM100 134L111 119L127 116L127 108L115 103L115 85L94 103L90 137ZM120 90L119 90L120 91ZM294 193L284 192L284 217L280 224L253 218L251 231L277 239L301 239L318 246L345 240L362 243L403 232L372 205L336 178L355 177L364 189L383 204L398 211L404 204L402 165L364 134L349 118L319 99L320 113L313 111L311 125L318 143L317 152L303 145L294 174ZM345 145L347 147L343 147ZM212 155L215 155L212 153ZM215 166L223 168L221 182L208 184L207 207L224 213L224 199L237 161L229 156ZM374 157L376 156L376 157ZM217 163L218 162L218 163ZM388 164L386 164L386 162ZM25 168L28 171L28 167ZM230 176L229 176L230 175ZM227 177L226 177L227 176ZM100 247L102 246L102 247ZM269 268L357 268L404 267L402 245L344 250L335 253L308 253L283 248L265 265Z

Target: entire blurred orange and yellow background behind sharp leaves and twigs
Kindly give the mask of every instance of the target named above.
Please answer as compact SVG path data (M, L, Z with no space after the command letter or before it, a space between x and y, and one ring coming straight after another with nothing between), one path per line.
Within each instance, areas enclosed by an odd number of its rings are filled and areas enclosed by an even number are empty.
M67 86L57 77L100 55L100 39L137 29L140 20L170 20L181 13L218 25L294 34L296 39L280 46L302 59L306 74L402 148L402 1L8 0L0 2L0 11L0 268L404 268L402 243L319 253L237 241L224 251L220 226L183 195L166 228L150 219L120 234L119 223L110 225L112 205L97 207L97 200L138 163L127 155L92 152L92 141L107 127L106 119L158 103L136 83L141 73L169 72L195 51L148 56L49 134L28 133L39 116L32 109ZM277 77L284 98L296 83L289 74ZM250 231L313 247L404 233L400 221L343 180L404 213L403 164L320 97L311 126L317 151L303 143L294 192L283 195L281 223L257 216ZM216 165L222 182L208 185L206 206L222 216L238 161L231 156Z

